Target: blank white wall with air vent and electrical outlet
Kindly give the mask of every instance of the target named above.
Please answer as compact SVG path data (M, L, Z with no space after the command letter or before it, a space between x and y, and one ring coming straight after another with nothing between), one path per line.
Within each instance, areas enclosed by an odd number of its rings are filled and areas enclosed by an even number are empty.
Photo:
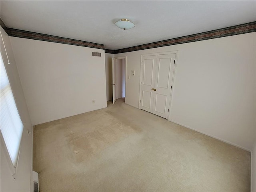
M107 106L104 50L10 40L33 125ZM102 57L92 56L92 51Z

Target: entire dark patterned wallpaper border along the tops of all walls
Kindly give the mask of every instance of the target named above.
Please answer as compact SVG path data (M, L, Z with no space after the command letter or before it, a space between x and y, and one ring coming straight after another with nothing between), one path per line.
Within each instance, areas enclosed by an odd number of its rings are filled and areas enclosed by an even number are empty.
M20 37L20 38L28 38L28 39L34 39L34 40L42 40L42 41L48 41L48 42L56 42L56 43L63 43L63 44L70 44L70 45L77 45L77 46L84 46L84 47L90 47L90 48L98 48L98 49L104 49L105 46L103 44L97 44L92 42L86 42L81 40L75 40L70 38L63 38L58 36L52 36L52 35L46 35L46 34L40 34L35 32L29 32L24 30L18 30L18 29L12 29L7 28L2 19L0 20L0 24L2 28L6 31L6 33L9 36L13 37ZM214 39L214 38L220 38L220 37L227 37L232 35L238 35L238 34L245 34L245 33L251 33L256 32L256 21L246 23L246 24L240 24L236 26L226 27L222 29L212 30L208 32L118 49L118 50L110 50L105 49L105 53L111 53L111 54L118 54L118 53L125 53L125 52L132 52L132 51L138 51L138 50L144 50L144 49L151 49L151 48L157 48L157 47L163 47L163 46L170 46L170 45L176 45L176 44L182 44L182 43L189 43L189 42L196 42L196 41L202 41L202 40L208 40L208 39Z

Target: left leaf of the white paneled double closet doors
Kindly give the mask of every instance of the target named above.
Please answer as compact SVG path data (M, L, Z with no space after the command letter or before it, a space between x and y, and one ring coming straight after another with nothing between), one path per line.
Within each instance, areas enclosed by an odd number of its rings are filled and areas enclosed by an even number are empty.
M143 56L140 108L151 113L153 111L155 74L156 56Z

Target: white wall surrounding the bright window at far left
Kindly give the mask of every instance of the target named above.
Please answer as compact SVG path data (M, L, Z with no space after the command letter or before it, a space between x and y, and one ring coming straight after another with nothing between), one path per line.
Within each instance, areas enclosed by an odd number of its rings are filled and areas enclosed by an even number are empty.
M10 60L10 65L8 65L8 60L4 50L4 46L1 39L1 53L6 67L6 72L12 87L12 92L16 101L17 108L20 112L20 118L24 125L24 130L22 133L22 140L20 144L20 155L18 160L18 166L15 174L15 180L8 167L8 159L5 156L4 151L1 147L1 191L30 191L31 174L32 174L32 124L30 121L30 116L28 114L28 108L26 106L26 101L22 91L22 86L20 83L20 78L18 70L16 67L16 62L12 52L12 46L10 43L9 36L1 27L1 33L6 46L7 54ZM17 61L17 60L16 60ZM28 130L31 132L28 135ZM33 190L33 185L31 190Z

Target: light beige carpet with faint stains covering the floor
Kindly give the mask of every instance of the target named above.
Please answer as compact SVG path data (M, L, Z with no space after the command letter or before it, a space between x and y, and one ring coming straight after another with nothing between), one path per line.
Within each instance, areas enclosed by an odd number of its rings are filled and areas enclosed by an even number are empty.
M250 153L143 110L108 108L34 126L49 191L250 191Z

